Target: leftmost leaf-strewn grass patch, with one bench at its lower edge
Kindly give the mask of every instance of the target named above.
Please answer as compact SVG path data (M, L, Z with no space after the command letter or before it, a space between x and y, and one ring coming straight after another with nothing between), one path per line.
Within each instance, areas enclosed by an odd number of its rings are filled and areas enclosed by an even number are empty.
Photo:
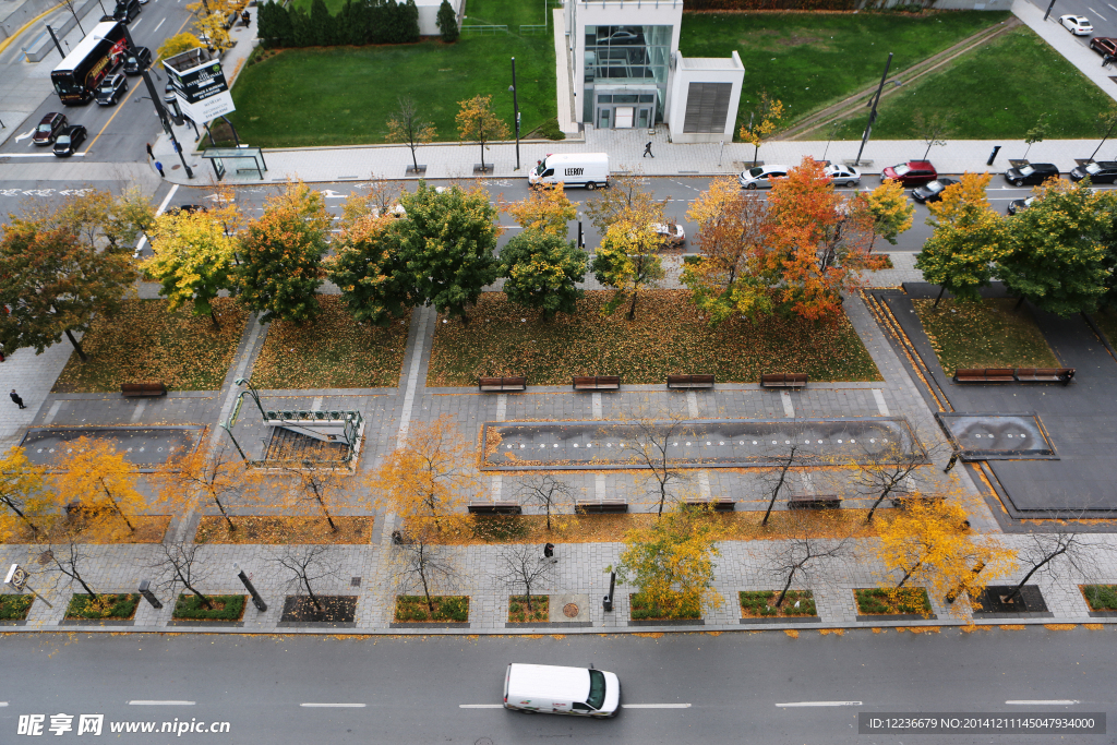
M232 363L248 314L232 298L213 302L221 328L209 316L166 300L125 300L113 318L97 318L82 340L89 355L70 354L55 393L120 391L121 383L159 381L172 391L216 391ZM68 344L65 338L63 344Z

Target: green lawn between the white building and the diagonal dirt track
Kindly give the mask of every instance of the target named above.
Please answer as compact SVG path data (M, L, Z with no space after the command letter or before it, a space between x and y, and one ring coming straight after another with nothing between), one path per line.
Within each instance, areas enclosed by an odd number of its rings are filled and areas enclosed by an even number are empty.
M786 107L786 125L879 80L889 51L896 54L891 70L904 70L1008 17L980 10L685 13L679 49L687 57L728 57L736 49L745 66L737 124L748 123L757 93L766 88ZM1000 83L999 69L990 74Z

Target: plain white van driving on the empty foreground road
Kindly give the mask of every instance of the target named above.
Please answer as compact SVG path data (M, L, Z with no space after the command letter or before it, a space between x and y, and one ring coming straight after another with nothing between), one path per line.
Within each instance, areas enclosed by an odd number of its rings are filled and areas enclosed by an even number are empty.
M504 707L516 711L612 717L620 704L621 682L604 670L513 662L504 678Z

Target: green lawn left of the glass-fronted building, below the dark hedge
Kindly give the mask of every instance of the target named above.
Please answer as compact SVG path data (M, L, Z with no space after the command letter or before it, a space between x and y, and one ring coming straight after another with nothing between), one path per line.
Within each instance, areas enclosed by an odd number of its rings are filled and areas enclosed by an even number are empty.
M340 2L327 2L333 9ZM309 2L306 2L309 8ZM265 55L237 78L230 115L242 142L262 147L353 145L384 142L386 120L400 96L412 96L438 128L437 140L458 139L458 102L491 95L513 126L512 61L516 58L521 132L555 116L555 55L551 36L521 37L521 23L540 23L542 3L470 0L471 21L506 23L509 34L462 35L457 44L427 39L412 45L286 49ZM534 9L534 10L533 10ZM480 151L477 153L478 162ZM421 155L420 155L421 162Z

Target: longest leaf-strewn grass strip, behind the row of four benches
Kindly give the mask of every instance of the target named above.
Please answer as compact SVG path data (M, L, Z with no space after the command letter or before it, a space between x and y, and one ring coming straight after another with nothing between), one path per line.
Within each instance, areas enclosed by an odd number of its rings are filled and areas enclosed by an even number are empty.
M629 322L623 309L602 316L610 297L610 290L586 293L577 313L547 322L504 293L486 293L468 325L439 316L427 385L476 385L479 375L514 374L527 375L534 385L618 374L622 383L662 383L676 373L751 382L768 372L880 380L844 316L832 324L734 318L710 327L686 290L652 290L641 296L636 321Z

